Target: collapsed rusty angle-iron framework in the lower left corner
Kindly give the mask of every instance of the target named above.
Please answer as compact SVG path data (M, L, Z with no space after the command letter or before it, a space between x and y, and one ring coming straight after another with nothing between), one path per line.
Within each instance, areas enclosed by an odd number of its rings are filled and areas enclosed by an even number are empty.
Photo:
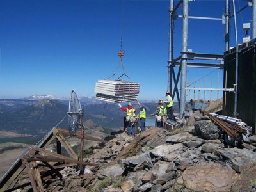
M11 168L0 179L0 192L14 191L29 185L32 186L33 191L41 192L44 191L43 183L45 180L51 179L52 177L59 177L60 179L62 178L62 175L59 172L61 168L83 164L89 166L98 166L98 164L95 163L83 162L83 159L79 159L78 161L76 152L74 152L72 147L70 147L63 135L69 135L68 130L61 128L56 129L54 127L50 132L48 132L42 141L40 141L40 143L33 147L26 148L23 154L15 161L15 163L13 163ZM94 138L86 134L84 134L84 138L83 136L81 137L80 134L74 135L80 137L83 140L100 141L104 143L107 142L105 140L100 140L99 138ZM54 139L57 141L57 153L50 152L45 149ZM61 155L61 146L67 150L70 157ZM54 166L49 162L64 164ZM40 166L43 166L43 168L40 168ZM42 173L45 172L50 172L51 175L42 176ZM30 183L17 186L17 182L24 174L29 175Z

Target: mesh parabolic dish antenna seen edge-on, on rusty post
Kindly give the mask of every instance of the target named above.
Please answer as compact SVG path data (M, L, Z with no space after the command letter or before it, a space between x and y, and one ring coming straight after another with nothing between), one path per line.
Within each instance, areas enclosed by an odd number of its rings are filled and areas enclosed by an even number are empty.
M82 109L80 101L76 95L75 90L71 91L69 106L68 106L68 129L70 135L76 132L77 128L81 127Z

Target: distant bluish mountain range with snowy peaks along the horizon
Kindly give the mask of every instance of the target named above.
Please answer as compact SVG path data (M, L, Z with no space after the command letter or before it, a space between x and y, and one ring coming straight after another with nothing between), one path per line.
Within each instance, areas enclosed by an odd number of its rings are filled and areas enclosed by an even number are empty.
M102 102L96 100L95 97L80 97L79 99L84 108L84 119L92 129L98 127L100 131L109 132L107 129L118 130L124 126L126 114L117 104ZM139 110L138 104L135 103L134 108ZM126 104L122 105L126 106ZM149 116L156 110L157 103L145 103L143 106L147 108L147 116ZM0 99L0 130L22 134L43 134L58 124L67 115L67 111L68 100L56 99L52 95ZM68 128L67 116L58 127Z

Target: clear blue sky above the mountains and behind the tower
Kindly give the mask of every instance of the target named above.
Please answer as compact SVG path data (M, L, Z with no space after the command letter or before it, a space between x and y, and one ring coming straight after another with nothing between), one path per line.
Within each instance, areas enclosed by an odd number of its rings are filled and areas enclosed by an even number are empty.
M159 99L166 91L169 4L170 1L125 0L123 59L125 72L141 85L140 99ZM246 1L238 3L236 0L237 10L244 5ZM232 11L232 6L230 8ZM181 15L182 9L177 13ZM223 13L224 0L189 3L189 15L221 18ZM237 15L239 42L244 36L242 23L251 22L251 13L249 7L242 15ZM72 88L80 96L93 96L95 82L115 71L121 15L121 0L1 0L0 98L34 94L68 97ZM222 54L224 27L221 21L190 19L188 48L194 52ZM178 18L175 21L175 57L181 51L181 28L182 20ZM233 20L231 28L230 45L234 47ZM188 68L188 82L212 71ZM223 71L215 70L213 87L217 87L218 72L222 86ZM207 76L208 80L210 78L211 75ZM201 86L204 86L204 79ZM201 97L204 99L203 95Z

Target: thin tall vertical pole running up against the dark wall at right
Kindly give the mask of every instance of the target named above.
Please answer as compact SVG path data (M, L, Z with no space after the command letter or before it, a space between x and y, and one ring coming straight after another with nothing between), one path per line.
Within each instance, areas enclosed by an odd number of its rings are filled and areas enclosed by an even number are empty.
M236 7L235 0L233 0L234 23L236 33L236 83L235 83L235 102L234 102L234 116L237 117L237 87L238 87L238 40L237 40L237 26L236 26Z

